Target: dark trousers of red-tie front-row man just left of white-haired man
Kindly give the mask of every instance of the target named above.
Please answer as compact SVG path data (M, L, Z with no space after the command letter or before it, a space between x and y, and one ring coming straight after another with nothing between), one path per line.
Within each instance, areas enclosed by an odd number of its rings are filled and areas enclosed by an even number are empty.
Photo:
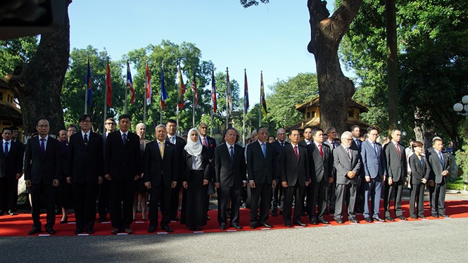
M307 191L307 214L312 219L323 219L325 210L327 210L327 179L322 179L317 184L309 184ZM318 213L315 212L315 204L318 207Z

